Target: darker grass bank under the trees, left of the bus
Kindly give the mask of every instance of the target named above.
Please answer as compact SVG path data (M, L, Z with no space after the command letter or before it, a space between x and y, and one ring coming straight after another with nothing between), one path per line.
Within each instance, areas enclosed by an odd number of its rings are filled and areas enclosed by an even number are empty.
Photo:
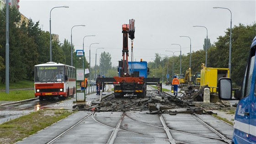
M19 81L19 82L10 82L10 89L18 89L18 88L33 88L34 82L31 81ZM0 83L0 90L5 90L5 83Z

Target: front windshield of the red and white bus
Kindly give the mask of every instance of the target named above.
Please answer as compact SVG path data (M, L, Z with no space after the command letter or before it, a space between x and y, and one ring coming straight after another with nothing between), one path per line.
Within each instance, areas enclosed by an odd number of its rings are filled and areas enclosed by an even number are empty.
M64 81L63 66L35 67L35 82Z

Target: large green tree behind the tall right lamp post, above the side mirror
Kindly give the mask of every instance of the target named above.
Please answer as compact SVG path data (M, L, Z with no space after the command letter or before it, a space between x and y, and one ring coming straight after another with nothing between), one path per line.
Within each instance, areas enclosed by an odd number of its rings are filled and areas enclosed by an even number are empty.
M225 36L219 36L215 42L213 50L209 51L209 61L214 67L228 68L229 63L229 33L225 31ZM239 24L232 28L232 48L231 48L231 78L233 82L241 85L245 74L245 66L250 51L251 41L255 37L256 23L249 26ZM215 60L213 60L213 58Z

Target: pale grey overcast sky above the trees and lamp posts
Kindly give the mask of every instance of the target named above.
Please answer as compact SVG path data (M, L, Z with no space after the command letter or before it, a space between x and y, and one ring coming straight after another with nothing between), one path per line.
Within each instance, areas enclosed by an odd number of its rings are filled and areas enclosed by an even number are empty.
M55 8L51 13L52 34L59 35L59 41L71 41L75 49L83 48L85 37L85 56L89 61L89 46L91 43L91 64L95 65L96 48L97 64L102 51L109 52L112 64L118 65L122 59L123 35L122 25L129 19L135 20L135 39L133 41L133 57L137 61L153 62L155 53L171 55L169 51L180 51L187 55L190 51L203 49L203 41L208 38L213 44L217 37L224 36L224 31L230 27L230 12L232 12L232 27L239 23L252 25L256 21L256 0L20 0L20 12L34 22L40 21L43 31L49 31L50 10L56 6L67 5L69 8ZM213 9L225 7L226 9ZM131 42L129 41L129 52ZM179 55L180 52L175 52ZM164 56L162 56L164 57ZM130 57L129 57L130 60Z

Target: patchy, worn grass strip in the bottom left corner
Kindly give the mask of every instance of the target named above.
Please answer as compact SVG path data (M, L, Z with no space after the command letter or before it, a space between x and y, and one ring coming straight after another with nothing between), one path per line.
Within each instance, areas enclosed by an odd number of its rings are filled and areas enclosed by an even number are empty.
M35 134L74 112L70 110L39 110L0 124L0 144L13 144Z

